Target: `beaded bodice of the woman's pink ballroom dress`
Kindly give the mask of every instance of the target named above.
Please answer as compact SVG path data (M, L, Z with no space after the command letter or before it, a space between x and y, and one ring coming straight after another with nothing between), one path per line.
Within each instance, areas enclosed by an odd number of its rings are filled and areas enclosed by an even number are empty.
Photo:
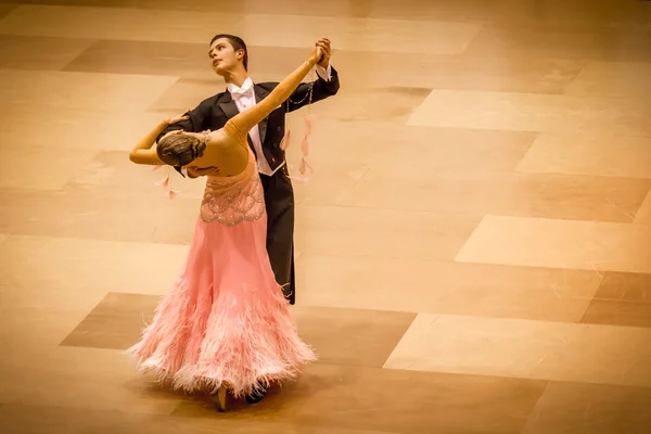
M265 193L257 173L253 152L242 173L232 177L207 176L201 202L201 217L205 222L235 226L255 221L265 213Z

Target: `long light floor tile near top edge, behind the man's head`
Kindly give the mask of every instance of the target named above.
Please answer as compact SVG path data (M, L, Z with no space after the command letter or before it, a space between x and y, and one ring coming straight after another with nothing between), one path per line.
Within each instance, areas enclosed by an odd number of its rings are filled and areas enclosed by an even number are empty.
M284 23L280 27L277 25L279 16ZM98 39L200 43L209 42L215 28L225 33L245 33L246 42L252 46L309 47L328 34L339 41L340 48L347 50L459 54L477 35L481 25L47 5L21 5L0 23L0 33L4 35L85 35ZM384 31L386 28L395 30L388 35Z

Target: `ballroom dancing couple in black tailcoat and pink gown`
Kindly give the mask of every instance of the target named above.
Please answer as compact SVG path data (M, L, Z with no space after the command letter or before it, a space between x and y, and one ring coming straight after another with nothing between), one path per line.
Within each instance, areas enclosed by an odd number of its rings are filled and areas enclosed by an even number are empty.
M184 267L129 353L173 388L216 394L224 410L227 391L256 403L316 359L289 309L294 194L281 142L285 113L340 85L328 39L280 84L253 84L239 37L215 36L208 53L227 92L162 122L130 153L207 180ZM303 84L312 67L318 79Z

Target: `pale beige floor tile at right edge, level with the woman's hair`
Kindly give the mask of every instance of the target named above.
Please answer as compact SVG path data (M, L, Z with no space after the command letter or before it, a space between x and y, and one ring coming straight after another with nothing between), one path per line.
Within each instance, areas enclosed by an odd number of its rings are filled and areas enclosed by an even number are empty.
M542 133L518 170L651 179L651 138Z

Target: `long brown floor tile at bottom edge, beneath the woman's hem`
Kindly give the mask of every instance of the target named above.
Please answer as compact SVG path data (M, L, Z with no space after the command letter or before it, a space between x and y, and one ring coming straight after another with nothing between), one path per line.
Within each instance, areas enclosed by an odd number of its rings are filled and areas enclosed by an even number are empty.
M295 383L256 404L251 414L337 433L520 433L544 387L535 380L312 365ZM221 419L192 401L181 403L174 416Z

